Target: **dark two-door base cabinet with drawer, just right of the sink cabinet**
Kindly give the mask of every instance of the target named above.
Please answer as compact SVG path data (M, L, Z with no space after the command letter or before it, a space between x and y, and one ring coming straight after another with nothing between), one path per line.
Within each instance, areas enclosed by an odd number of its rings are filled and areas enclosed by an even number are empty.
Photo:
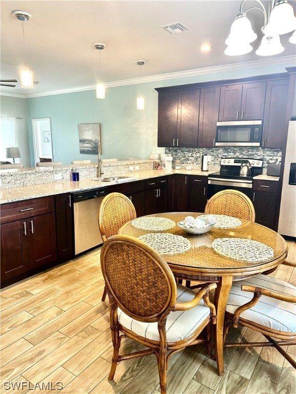
M168 176L145 180L145 215L167 212Z

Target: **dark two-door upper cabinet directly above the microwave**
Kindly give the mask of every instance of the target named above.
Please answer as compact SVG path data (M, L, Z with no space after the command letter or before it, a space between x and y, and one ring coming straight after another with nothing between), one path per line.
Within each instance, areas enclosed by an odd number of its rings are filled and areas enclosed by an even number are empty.
M219 122L263 119L266 82L221 86Z

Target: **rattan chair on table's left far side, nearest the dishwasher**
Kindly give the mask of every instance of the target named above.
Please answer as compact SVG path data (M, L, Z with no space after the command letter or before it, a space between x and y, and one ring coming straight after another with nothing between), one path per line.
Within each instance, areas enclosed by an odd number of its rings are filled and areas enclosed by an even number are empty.
M136 219L136 209L130 199L121 193L107 194L100 204L99 229L105 242L112 235L116 235L126 222ZM104 288L102 301L105 301L107 289Z

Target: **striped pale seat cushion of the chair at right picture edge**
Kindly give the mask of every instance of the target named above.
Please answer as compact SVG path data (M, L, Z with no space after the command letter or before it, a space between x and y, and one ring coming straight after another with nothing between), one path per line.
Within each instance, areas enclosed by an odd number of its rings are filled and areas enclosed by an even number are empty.
M296 295L295 286L268 275L256 275L244 281L233 282L227 301L227 312L233 314L239 306L253 298L254 293L242 291L242 285L262 287L283 295L294 297ZM258 303L242 312L240 317L273 330L296 332L296 304L276 300L266 295L262 295Z

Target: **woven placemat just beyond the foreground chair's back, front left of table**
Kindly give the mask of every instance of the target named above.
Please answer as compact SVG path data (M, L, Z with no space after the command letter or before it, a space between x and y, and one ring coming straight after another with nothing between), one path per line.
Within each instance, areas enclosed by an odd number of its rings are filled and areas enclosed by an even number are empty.
M157 232L141 235L139 240L144 241L160 254L183 253L190 249L190 241L181 235L167 232Z

